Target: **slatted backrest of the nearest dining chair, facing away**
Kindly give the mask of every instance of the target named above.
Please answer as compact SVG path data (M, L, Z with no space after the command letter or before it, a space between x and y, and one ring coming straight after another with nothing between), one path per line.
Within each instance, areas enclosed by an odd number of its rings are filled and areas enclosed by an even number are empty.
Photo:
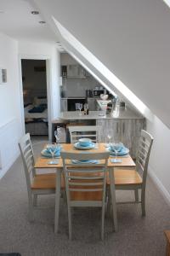
M101 205L105 203L106 170L109 152L85 154L61 151L61 158L63 160L68 204L70 206L75 206L76 204L77 206L77 202L71 199L71 192L73 191L94 193L101 191L103 194L100 203ZM81 160L95 160L96 163L90 164L85 161L82 163ZM94 203L94 201L90 203ZM89 201L86 206L88 204Z

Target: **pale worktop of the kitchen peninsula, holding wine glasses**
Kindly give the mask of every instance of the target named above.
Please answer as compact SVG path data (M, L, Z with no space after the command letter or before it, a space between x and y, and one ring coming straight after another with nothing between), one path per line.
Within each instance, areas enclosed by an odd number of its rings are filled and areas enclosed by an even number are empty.
M119 116L114 118L111 115L105 115L104 111L89 111L88 115L83 112L80 115L79 111L65 111L59 115L60 119L144 119L140 113L134 112L132 109L120 110Z

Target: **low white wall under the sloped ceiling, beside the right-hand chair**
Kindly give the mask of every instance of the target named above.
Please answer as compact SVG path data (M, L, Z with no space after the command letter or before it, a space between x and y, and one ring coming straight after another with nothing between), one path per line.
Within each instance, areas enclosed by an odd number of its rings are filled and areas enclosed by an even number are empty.
M170 204L170 130L155 116L152 123L147 121L147 131L154 137L149 172Z

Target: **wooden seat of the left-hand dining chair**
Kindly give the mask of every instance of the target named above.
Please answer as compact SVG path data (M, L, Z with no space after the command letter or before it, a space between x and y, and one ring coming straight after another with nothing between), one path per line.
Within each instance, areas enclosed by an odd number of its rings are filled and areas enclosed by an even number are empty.
M37 174L31 183L31 189L55 189L56 174ZM61 189L65 188L65 180L61 175Z

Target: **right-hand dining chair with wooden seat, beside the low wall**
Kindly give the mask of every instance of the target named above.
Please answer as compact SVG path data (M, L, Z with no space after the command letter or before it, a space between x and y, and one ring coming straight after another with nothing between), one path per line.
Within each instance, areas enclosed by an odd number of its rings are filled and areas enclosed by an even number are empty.
M142 130L139 139L136 169L114 169L116 190L134 190L135 201L120 203L141 203L143 216L145 215L145 187L152 143L153 137ZM140 175L139 172L142 174ZM107 184L110 185L109 179ZM141 189L141 201L139 201L139 189Z

